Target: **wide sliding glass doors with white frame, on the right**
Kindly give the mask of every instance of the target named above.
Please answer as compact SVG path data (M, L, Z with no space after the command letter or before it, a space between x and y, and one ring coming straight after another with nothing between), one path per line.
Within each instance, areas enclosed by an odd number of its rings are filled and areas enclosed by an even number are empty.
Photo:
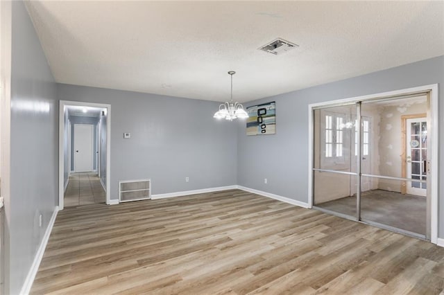
M431 85L310 105L311 206L436 243L436 104Z

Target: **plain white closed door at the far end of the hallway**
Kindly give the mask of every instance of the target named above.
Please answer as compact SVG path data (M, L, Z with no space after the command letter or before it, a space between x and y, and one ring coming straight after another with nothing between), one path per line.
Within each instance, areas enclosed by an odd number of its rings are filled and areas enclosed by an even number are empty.
M74 171L90 172L93 163L94 125L74 124Z

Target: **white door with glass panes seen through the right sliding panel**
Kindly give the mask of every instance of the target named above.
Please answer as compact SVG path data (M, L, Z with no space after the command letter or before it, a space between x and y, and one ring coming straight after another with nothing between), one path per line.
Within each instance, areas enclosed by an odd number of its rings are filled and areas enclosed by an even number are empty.
M407 178L427 180L427 118L407 119ZM407 181L407 194L427 195L427 184Z

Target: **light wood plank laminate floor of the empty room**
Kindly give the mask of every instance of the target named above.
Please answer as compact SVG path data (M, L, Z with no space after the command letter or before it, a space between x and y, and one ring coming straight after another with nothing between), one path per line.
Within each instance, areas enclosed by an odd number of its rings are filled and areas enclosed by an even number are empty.
M439 294L444 248L241 190L65 208L31 294Z

